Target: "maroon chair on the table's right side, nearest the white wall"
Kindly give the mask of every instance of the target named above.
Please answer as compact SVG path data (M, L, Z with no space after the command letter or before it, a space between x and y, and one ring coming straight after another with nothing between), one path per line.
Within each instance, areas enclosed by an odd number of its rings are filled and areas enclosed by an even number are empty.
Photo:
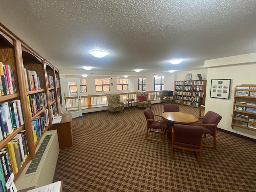
M204 130L204 137L206 137L206 134L210 134L213 136L213 146L203 146L205 148L212 148L216 149L216 131L217 131L217 125L222 119L222 116L219 114L208 111L203 118L202 124L194 123L191 124L192 126L201 126Z

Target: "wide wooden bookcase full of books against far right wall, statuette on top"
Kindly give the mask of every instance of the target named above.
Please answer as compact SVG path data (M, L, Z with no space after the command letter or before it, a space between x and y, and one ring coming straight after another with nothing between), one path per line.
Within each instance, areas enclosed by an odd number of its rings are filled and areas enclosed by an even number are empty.
M206 80L175 81L174 103L199 107L205 103Z

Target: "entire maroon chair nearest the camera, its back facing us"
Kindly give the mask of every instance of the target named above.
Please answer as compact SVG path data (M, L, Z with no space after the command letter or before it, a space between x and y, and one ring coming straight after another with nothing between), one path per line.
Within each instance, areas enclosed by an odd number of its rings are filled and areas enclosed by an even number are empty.
M172 127L171 158L173 158L174 147L182 150L193 151L196 153L199 166L201 166L202 135L202 127L174 124Z

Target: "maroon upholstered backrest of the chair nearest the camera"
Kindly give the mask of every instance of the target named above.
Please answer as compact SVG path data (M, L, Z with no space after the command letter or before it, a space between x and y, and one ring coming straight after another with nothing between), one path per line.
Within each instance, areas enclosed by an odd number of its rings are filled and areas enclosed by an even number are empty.
M201 145L203 128L199 126L174 124L174 145L198 149Z

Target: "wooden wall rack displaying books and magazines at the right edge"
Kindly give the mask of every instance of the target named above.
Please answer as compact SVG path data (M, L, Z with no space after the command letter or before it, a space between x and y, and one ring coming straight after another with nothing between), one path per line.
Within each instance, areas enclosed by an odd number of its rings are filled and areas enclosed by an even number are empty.
M256 131L256 84L236 86L232 128L234 126Z

